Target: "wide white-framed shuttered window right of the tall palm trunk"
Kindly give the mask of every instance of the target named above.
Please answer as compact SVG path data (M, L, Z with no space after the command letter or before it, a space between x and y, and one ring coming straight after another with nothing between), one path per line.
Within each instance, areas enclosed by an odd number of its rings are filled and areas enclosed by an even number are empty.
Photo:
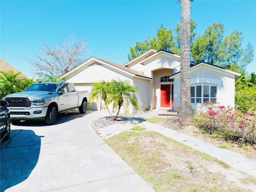
M214 84L200 83L190 87L191 103L217 101L217 86Z

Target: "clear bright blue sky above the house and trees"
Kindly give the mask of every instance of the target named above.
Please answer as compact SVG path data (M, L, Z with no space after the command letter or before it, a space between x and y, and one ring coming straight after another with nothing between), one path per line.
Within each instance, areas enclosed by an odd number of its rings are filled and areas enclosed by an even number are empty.
M224 24L225 35L238 29L244 37L242 47L250 42L254 60L247 72L256 72L256 1L195 0L191 3L191 19L197 22L196 32L203 33L213 22ZM40 38L57 45L63 35L76 34L86 38L95 56L125 64L129 48L154 37L161 23L174 28L180 22L177 0L143 1L0 1L0 57L27 76L32 69L24 60L33 58L42 48Z

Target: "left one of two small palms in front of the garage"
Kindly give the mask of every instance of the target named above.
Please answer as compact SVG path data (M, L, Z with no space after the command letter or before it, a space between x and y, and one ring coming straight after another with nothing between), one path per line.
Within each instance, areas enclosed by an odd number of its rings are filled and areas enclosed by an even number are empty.
M92 105L92 102L96 99L100 100L100 110L107 109L108 113L112 118L112 113L108 109L107 97L110 92L110 83L102 80L102 82L94 83L92 90L90 92L89 104ZM102 105L102 100L104 104Z

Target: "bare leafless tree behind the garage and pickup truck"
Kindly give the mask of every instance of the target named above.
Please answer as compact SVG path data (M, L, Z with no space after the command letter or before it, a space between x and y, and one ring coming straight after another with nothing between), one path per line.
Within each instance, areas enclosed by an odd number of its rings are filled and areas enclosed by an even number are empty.
M51 46L46 41L38 39L43 48L34 54L34 60L25 58L32 66L33 73L40 78L52 76L58 78L78 66L89 52L85 49L88 42L85 38L76 40L76 35L70 34L58 39L58 46Z

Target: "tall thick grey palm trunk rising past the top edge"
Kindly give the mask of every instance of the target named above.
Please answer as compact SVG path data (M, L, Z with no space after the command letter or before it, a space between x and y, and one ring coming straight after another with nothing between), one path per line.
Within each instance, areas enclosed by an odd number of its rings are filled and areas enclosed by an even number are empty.
M192 0L178 0L181 4L180 21L180 108L178 117L193 118L190 94L190 9Z

